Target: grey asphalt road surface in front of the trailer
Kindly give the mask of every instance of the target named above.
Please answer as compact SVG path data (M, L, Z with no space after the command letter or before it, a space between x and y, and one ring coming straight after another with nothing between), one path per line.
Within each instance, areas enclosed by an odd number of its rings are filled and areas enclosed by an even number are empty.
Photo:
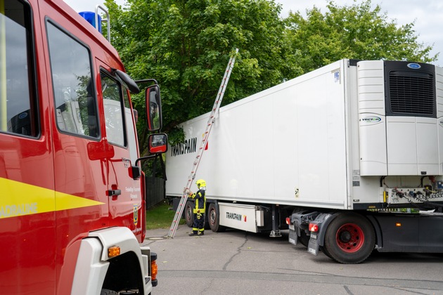
M336 263L283 237L206 230L189 237L179 225L148 230L144 244L158 254L153 294L442 294L442 254L375 253L364 263Z

